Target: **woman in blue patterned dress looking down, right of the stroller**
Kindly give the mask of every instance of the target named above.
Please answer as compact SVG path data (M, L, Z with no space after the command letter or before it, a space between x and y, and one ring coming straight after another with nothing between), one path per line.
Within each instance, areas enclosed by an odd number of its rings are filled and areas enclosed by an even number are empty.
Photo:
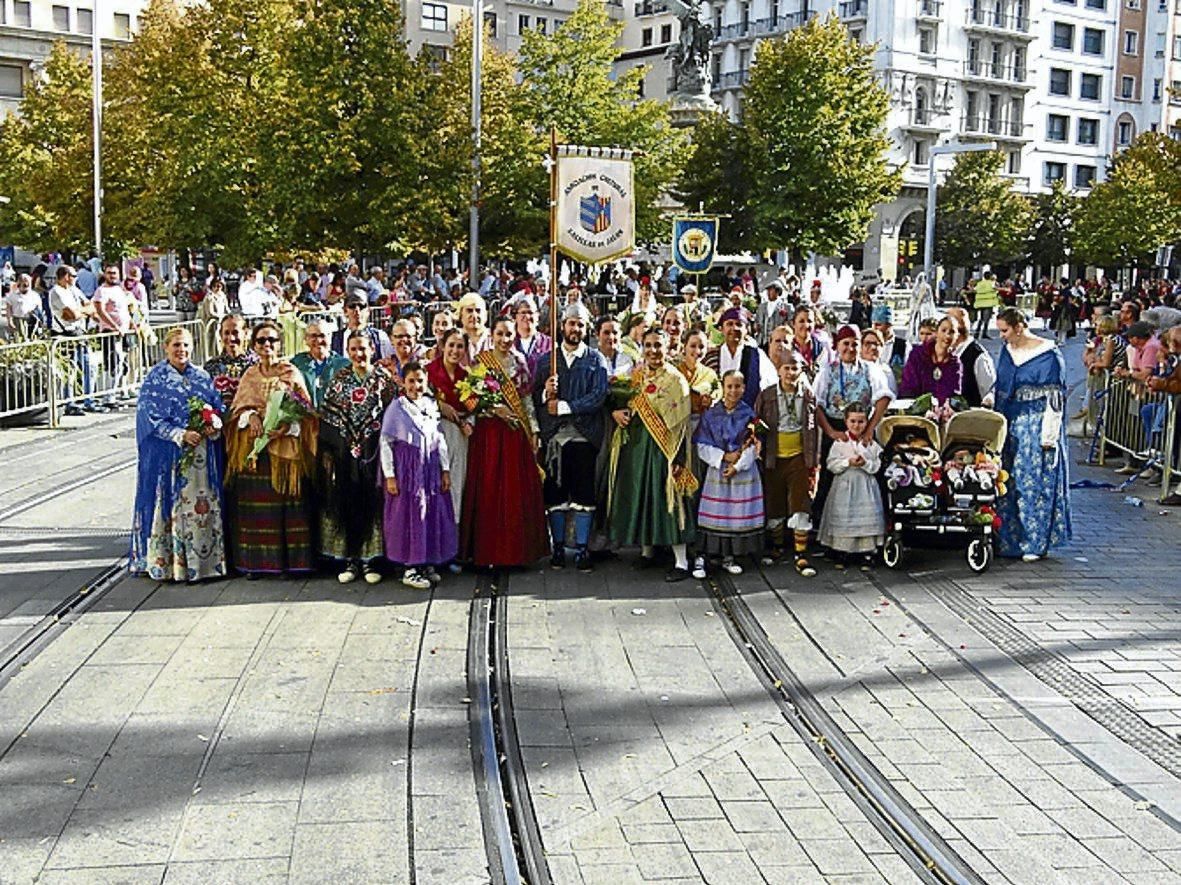
M1066 366L1053 341L1031 333L1025 317L1006 307L997 317L1005 340L997 360L997 411L1009 421L1004 466L1010 482L997 502L998 553L1026 562L1070 539Z

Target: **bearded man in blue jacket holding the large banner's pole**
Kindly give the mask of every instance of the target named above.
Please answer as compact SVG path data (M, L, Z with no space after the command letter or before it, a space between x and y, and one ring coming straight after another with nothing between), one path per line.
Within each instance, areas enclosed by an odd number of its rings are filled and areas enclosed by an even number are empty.
M566 533L574 523L574 565L590 571L590 529L596 505L595 462L605 438L602 405L607 399L607 365L586 344L590 312L582 304L562 311L562 343L557 373L534 389L541 458L546 469L542 500L549 518L553 568L566 565ZM539 366L548 370L548 359Z

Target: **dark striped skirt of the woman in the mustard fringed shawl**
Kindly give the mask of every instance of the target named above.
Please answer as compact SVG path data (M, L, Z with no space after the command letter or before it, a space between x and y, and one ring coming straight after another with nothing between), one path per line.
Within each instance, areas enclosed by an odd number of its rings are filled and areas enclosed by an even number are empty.
M237 571L279 574L313 570L307 507L272 487L269 455L259 457L256 470L234 477L227 499Z

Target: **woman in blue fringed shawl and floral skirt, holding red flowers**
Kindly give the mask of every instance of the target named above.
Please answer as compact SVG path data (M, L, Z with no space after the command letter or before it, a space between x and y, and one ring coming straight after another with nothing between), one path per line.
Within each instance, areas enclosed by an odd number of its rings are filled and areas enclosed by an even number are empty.
M221 432L221 395L189 362L193 337L174 328L167 358L152 366L136 409L135 523L131 571L154 580L200 581L226 574L222 456L209 441ZM190 415L201 430L190 430Z

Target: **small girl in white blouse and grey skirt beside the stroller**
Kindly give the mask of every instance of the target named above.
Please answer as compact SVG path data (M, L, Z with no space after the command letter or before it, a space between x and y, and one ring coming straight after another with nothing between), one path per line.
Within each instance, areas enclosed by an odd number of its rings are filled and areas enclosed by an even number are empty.
M844 436L833 442L828 469L833 486L824 502L818 540L833 549L836 568L844 568L848 554L862 558L868 571L873 554L886 540L881 492L875 474L881 467L882 449L876 443L861 442L869 416L861 403L844 409Z

